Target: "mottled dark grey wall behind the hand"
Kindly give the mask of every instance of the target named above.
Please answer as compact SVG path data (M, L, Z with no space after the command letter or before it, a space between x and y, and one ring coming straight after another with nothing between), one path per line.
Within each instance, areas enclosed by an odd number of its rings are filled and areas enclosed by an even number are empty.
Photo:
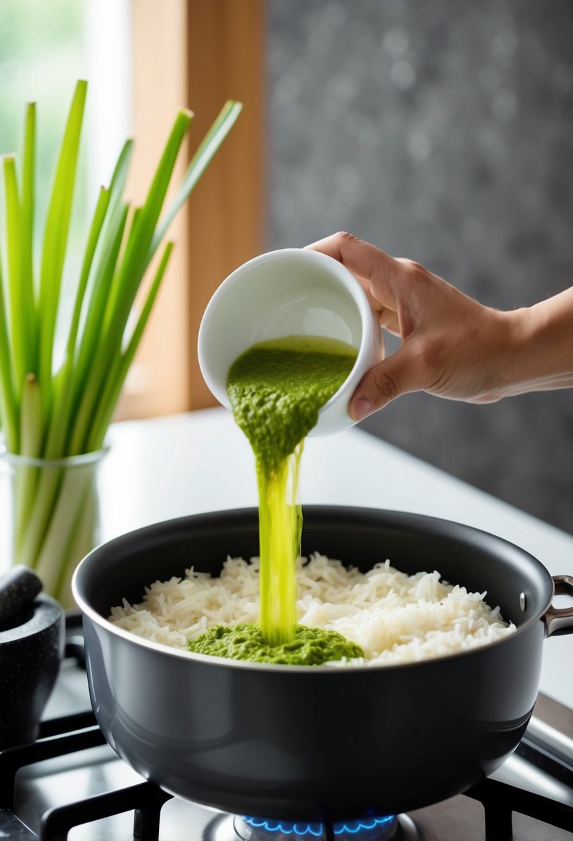
M573 283L568 0L267 7L270 249L350 230L500 309ZM573 390L362 426L573 532Z

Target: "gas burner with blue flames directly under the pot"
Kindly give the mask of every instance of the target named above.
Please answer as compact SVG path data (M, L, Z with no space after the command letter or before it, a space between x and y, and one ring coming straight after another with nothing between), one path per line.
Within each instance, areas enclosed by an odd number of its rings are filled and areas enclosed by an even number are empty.
M234 817L234 833L241 841L418 841L407 815L365 817L355 821L308 823L259 817Z

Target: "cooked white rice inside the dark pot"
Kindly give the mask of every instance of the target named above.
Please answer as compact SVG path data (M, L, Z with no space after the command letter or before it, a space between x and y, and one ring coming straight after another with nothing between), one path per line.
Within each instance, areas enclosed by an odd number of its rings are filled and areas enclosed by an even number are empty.
M338 664L408 663L492 643L515 631L486 593L440 581L438 572L407 575L390 562L367 573L314 554L297 570L299 621L338 631L358 643L365 658ZM228 558L219 578L188 569L184 579L156 581L143 601L113 607L118 627L186 648L213 627L255 622L259 616L259 558Z

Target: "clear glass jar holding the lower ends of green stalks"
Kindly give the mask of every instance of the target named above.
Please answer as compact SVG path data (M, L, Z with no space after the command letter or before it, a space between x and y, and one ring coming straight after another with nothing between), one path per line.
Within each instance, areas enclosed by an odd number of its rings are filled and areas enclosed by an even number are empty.
M71 577L99 540L97 473L108 448L66 458L0 452L2 566L34 569L44 591L74 606Z

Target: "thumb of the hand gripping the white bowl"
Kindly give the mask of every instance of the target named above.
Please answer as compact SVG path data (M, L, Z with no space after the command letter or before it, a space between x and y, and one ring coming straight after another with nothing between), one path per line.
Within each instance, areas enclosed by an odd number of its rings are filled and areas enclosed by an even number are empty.
M418 378L412 353L408 345L402 345L392 356L365 373L350 398L350 417L362 421L402 394L423 389Z

